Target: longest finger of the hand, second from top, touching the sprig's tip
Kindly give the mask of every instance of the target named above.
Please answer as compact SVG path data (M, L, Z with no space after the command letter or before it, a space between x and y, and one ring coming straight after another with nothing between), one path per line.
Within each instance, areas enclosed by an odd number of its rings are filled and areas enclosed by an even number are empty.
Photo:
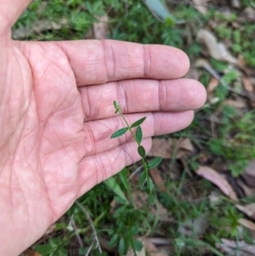
M133 79L79 87L84 121L115 116L113 100L125 113L186 111L200 108L205 102L205 88L191 79Z

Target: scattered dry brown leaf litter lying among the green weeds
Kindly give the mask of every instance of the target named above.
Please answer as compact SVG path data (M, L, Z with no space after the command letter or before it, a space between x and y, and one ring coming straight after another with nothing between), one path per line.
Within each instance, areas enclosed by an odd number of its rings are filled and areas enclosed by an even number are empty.
M148 1L147 1L148 2ZM218 4L221 6L220 1L203 1L203 0L193 0L189 1L194 4L194 7L196 10L198 10L203 15L207 15L208 10L210 10L210 7L212 4ZM223 5L223 4L222 4ZM231 1L231 6L234 8L237 8L239 10L240 8L240 1ZM165 15L171 15L171 13L165 8L164 6L164 12ZM217 15L221 14L221 11L216 13ZM226 14L226 13L225 13ZM224 14L224 15L225 15ZM225 15L225 18L230 17L231 13L228 12ZM154 11L154 15L156 15L156 11ZM208 78L208 86L207 86L207 93L208 93L208 99L207 103L210 103L208 105L209 107L212 107L213 105L217 105L219 103L219 90L221 89L222 85L222 79L228 73L228 68L240 70L238 73L238 79L239 83L241 84L240 91L235 90L234 86L232 84L228 84L226 88L228 91L228 99L222 100L223 105L228 105L232 107L233 109L241 109L243 113L245 113L245 109L251 109L250 105L254 107L254 101L252 102L252 99L254 99L254 85L255 85L255 72L254 68L250 68L247 65L247 61L245 61L243 57L243 53L240 52L235 54L235 52L231 51L232 43L230 40L226 40L226 38L219 38L217 34L215 33L215 27L218 25L221 26L221 24L224 24L224 22L219 21L217 19L217 15L215 17L212 17L210 22L208 23L208 26L205 26L205 24L202 24L200 26L200 29L195 31L193 40L198 40L198 43L200 44L200 47L204 47L201 51L203 57L205 59L198 59L196 57L195 61L196 63L193 63L193 73L189 74L190 76L193 76L195 79L200 79L200 77L203 75L203 73L208 72L210 74L210 77ZM159 15L160 16L160 15ZM251 21L255 20L255 11L253 8L245 8L244 10L240 11L240 17L238 17L236 22L228 22L228 26L235 27L236 29L242 29L242 26L244 26L245 19L249 19ZM159 17L158 17L159 18ZM241 19L242 18L242 19ZM92 34L93 37L99 40L106 39L107 34L110 33L109 28L109 17L108 15L98 15L96 16L96 21L92 25ZM159 18L161 19L161 18ZM112 20L110 20L112 22ZM183 23L183 22L181 22ZM68 22L66 19L60 20L60 22L55 21L48 21L48 20L39 20L38 23L34 23L33 27L24 27L23 29L15 29L13 31L13 38L27 38L31 33L35 34L43 34L47 30L55 29L55 30L61 30L62 27L68 27ZM227 64L226 70L217 70L217 67L215 68L214 65L212 65L212 59L215 59L220 62L224 62ZM201 71L202 70L202 71ZM248 93L248 94L245 94ZM252 98L253 97L253 98ZM207 104L206 103L206 104ZM253 105L252 105L253 104ZM224 107L217 107L218 112L222 112ZM214 113L212 114L214 116ZM213 118L214 121L212 122L212 126L214 126L214 135L217 137L217 133L219 132L219 127L222 125L222 119L219 115L215 115L215 118ZM216 121L215 121L216 120ZM218 120L218 121L217 121ZM205 122L201 123L201 125L205 124ZM234 133L233 133L234 134ZM230 134L230 139L233 138L233 134ZM201 136L202 134L200 134ZM235 188L228 182L226 179L226 176L224 175L224 172L228 170L226 167L226 162L222 160L222 157L219 157L219 165L224 165L224 168L214 168L215 164L215 156L212 156L208 154L207 152L203 151L203 146L200 144L201 138L198 137L191 137L187 138L185 136L182 136L180 139L176 138L169 138L166 139L153 139L152 143L152 149L147 154L147 156L162 156L164 158L164 161L159 165L157 168L153 168L149 170L150 177L152 177L152 180L154 181L154 184L156 185L157 190L161 193L169 193L171 196L171 193L169 192L168 188L166 186L166 179L168 178L168 175L171 172L171 177L174 177L172 179L173 184L177 181L182 181L182 176L184 175L184 162L189 162L191 158L194 156L198 156L199 152L199 158L198 163L200 166L196 166L193 169L196 169L196 173L198 176L201 176L211 183L215 184L224 195L229 197L231 200L235 201L235 206L237 209L244 213L249 220L245 218L239 218L238 223L245 227L245 229L249 229L254 231L254 221L255 220L255 204L254 203L247 203L247 202L240 202L240 199L238 199L237 192L235 191ZM196 143L195 143L196 142ZM202 156L203 155L203 156ZM185 160L185 161L183 161ZM187 161L188 160L188 161ZM201 165L203 163L203 165ZM217 165L217 167L219 167ZM242 177L235 178L235 181L240 188L244 191L245 195L247 197L251 197L255 194L254 190L254 160L249 162L249 166L245 169L244 174L242 174ZM178 173L178 174L175 174ZM170 176L170 175L169 175ZM193 179L197 179L198 177L193 177ZM189 179L187 179L189 180ZM132 179L132 181L135 181L135 179ZM192 181L193 182L193 181ZM193 185L196 184L196 181L194 183L191 183L191 181L186 181L186 183L183 183L182 190L180 190L180 199L187 199L188 196L184 193L184 187L187 186L187 190L190 190L189 196L191 196L191 200L193 200L193 190L198 190L198 188L194 189ZM135 182L134 182L135 183ZM191 183L191 184L189 184ZM199 184L199 183L198 183ZM198 185L199 186L199 185ZM195 194L195 193L194 193ZM135 198L135 204L136 207L140 207L140 209L143 209L144 202L147 202L147 194L143 194L143 192L138 192L136 190L132 190L132 195ZM124 196L125 197L125 196ZM210 194L204 195L201 193L200 195L197 195L197 198L195 200L203 200L204 198L210 199L210 202L214 202L215 205L222 204L222 195L219 193L215 193L213 190ZM126 198L126 197L125 197ZM114 202L114 201L113 201ZM217 203L216 203L217 202ZM118 207L118 202L115 202L112 204L112 213L114 212L114 209ZM150 206L150 212L156 218L156 216L159 216L159 222L163 222L164 220L168 220L168 222L171 222L171 225L175 222L171 215L171 211L166 209L166 206L159 202L156 206ZM207 215L200 215L203 216L203 219L205 222L201 222L201 231L196 232L196 234L200 234L201 237L203 237L203 228L205 228L207 225L210 225L210 222L208 223ZM200 222L200 217L197 218L186 218L186 221L184 222L184 226L187 227L187 229L179 229L179 232L184 236L192 236L192 232L190 233L190 229L194 228L194 223ZM198 225L199 226L199 225ZM177 229L178 230L178 229ZM166 239L167 241L165 245L156 243L156 239L159 239L161 243L163 243L163 240L165 238L163 237L156 237L156 235L153 235L154 237L143 237L143 244L145 245L145 249L147 252L149 252L149 255L151 256L164 256L167 255L165 253L160 254L161 252L157 252L158 248L163 248L162 246L173 246L173 240L172 239ZM255 238L253 238L255 240ZM106 239L107 240L107 239ZM107 241L106 241L107 243ZM221 246L222 245L222 246ZM242 250L242 247L244 246L245 250ZM106 246L107 247L107 246ZM156 249L155 249L156 248ZM230 239L221 238L221 244L217 244L217 248L222 250L222 252L229 253L229 255L236 255L234 252L238 249L239 255L254 255L251 252L254 252L255 249L251 245L245 243L244 241L238 241L238 245L235 241L232 241ZM248 248L248 250L247 250ZM110 249L109 249L110 250ZM172 250L172 251L171 251ZM253 251L252 251L253 250ZM175 253L175 250L169 249L169 252ZM140 256L145 255L145 250L142 250ZM233 254L231 254L233 253ZM245 254L247 253L247 254ZM250 253L250 254L249 254ZM32 255L27 255L32 256ZM37 256L33 255L33 256ZM39 255L38 255L39 256Z

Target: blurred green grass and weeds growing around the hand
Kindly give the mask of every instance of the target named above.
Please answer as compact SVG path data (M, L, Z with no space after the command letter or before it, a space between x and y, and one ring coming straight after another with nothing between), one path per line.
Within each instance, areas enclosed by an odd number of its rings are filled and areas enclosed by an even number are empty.
M212 6L203 16L191 4L170 2L168 5L175 19L184 20L181 24L170 26L157 20L138 0L36 0L13 26L13 34L16 33L15 39L20 40L89 39L93 38L92 26L98 22L96 17L107 15L108 38L178 47L187 52L194 67L196 59L204 57L201 45L196 41L196 31L206 27L217 36L217 40L231 42L229 49L233 56L242 54L249 68L255 66L253 22L246 20L234 28L233 24L238 24L237 10L231 10L231 15L226 16L219 12L218 6ZM252 3L242 1L242 9ZM45 21L55 22L57 26L45 26ZM215 23L213 28L210 27L212 22ZM40 31L33 29L35 24L41 26ZM117 255L116 252L124 255L129 247L139 252L142 243L138 238L143 236L169 239L169 255L222 255L215 246L221 243L222 237L252 242L247 230L237 222L242 215L233 202L193 172L198 165L217 169L221 164L225 166L224 171L237 177L255 156L255 112L251 110L251 100L242 94L237 67L210 58L208 62L222 77L214 90L213 100L196 111L189 128L164 136L168 140L189 138L195 152L184 156L186 165L175 158L175 154L171 160L163 159L158 170L166 190L162 191L156 185L149 189L149 195L154 199L153 206L147 202L147 196L143 198L146 191L140 190L138 177L142 170L138 176L128 179L142 162L126 167L78 199L94 222L103 245L102 255ZM198 68L198 74L200 82L207 87L212 75L202 68ZM237 109L226 102L240 99L247 103L247 107ZM145 177L150 182L148 173ZM210 200L212 195L217 200ZM162 209L166 210L164 218ZM78 227L84 248L78 246L71 218ZM192 224L201 220L206 223L203 232ZM43 256L85 255L93 237L90 223L75 204L57 222L54 232L32 248ZM94 246L91 255L99 255L98 248Z

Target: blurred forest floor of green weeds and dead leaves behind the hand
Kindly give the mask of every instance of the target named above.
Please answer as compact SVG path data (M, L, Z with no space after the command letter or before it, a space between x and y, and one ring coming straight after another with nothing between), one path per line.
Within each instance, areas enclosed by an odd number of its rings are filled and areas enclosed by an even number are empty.
M13 26L16 40L107 37L178 47L191 60L186 77L208 94L191 126L153 139L147 158L163 157L149 172L153 206L135 163L82 196L23 256L255 255L255 1L164 4L36 0ZM84 211L102 254L96 243L90 249Z

